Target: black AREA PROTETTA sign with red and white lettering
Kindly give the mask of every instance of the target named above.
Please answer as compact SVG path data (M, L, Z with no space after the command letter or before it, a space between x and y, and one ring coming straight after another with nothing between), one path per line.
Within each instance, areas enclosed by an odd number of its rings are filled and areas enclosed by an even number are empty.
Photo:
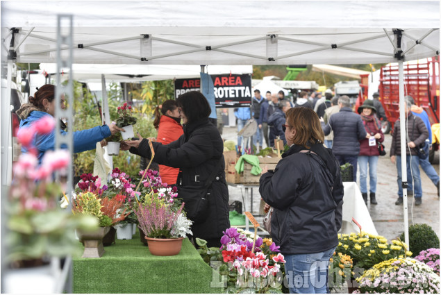
M251 76L249 74L211 75L214 85L216 108L238 108L251 104ZM200 91L201 79L176 79L174 96L189 91Z

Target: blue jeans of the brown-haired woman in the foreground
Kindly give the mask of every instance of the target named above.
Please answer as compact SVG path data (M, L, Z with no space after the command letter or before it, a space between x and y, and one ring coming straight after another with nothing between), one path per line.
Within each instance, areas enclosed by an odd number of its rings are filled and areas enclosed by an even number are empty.
M329 258L334 251L335 247L320 253L284 255L290 293L326 294Z

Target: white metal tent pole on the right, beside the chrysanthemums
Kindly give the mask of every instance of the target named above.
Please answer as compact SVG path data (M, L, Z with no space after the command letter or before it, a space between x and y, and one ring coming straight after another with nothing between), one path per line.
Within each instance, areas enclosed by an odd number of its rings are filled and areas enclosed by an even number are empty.
M403 60L398 61L398 80L399 80L399 124L400 124L400 144L401 144L401 185L403 187L403 214L404 214L404 242L409 245L409 220L408 220L408 201L407 201L407 168L406 168L406 117L404 114L404 71ZM412 181L412 180L410 180ZM409 250L409 249L407 249Z

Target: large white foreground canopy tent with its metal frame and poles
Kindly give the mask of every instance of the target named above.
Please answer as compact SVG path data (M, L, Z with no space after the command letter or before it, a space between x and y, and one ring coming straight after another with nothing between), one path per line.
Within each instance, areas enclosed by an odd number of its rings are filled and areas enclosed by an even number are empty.
M69 13L73 15L73 63L398 61L403 110L402 62L439 54L439 11L439 1L2 1L1 59L8 62L8 69L13 61L57 62L57 15ZM296 17L310 15L313 17L301 21ZM63 33L69 32L67 24L61 27ZM67 56L69 48L62 48ZM3 93L9 96L10 87ZM2 97L2 130L9 129L8 103L8 97ZM400 118L404 124L403 111ZM402 154L406 153L404 130L401 128ZM4 163L8 162L8 135L1 136ZM2 165L2 178L3 166L7 165ZM405 157L401 167L406 170ZM407 242L407 202L403 210Z

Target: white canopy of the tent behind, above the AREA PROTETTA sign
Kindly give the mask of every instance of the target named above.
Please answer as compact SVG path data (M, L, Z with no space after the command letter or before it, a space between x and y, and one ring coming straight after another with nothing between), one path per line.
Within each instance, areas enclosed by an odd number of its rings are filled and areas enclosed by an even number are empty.
M40 69L48 74L56 74L57 65L42 63ZM210 65L205 71L211 75L220 74L251 74L252 65ZM72 65L74 80L90 83L101 83L101 74L107 82L135 83L138 81L158 81L174 78L198 78L199 65ZM63 78L69 73L65 72Z

